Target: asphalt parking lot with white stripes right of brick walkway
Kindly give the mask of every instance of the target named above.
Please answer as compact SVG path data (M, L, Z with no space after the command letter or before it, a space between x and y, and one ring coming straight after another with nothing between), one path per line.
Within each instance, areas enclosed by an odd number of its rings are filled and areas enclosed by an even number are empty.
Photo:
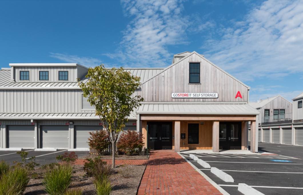
M245 183L264 194L303 194L303 147L259 143L259 150L277 155L262 154L203 154L195 155L231 175L235 182L224 182L181 152L195 167L230 194L242 194L238 184Z

